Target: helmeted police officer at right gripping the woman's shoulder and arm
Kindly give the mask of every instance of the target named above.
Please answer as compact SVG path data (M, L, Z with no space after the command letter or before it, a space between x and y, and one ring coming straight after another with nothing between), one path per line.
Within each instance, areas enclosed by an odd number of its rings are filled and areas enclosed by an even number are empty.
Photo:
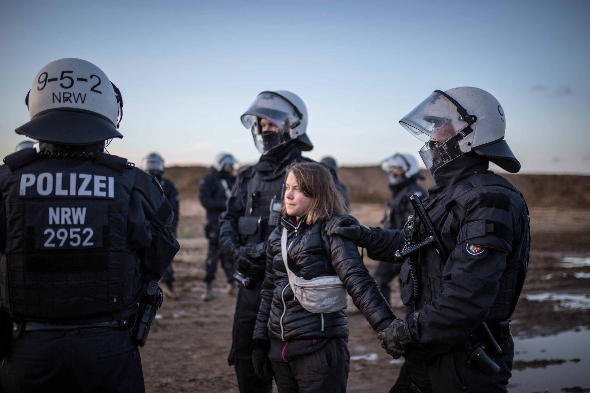
M488 170L489 161L520 170L503 140L504 110L486 91L458 87L434 91L400 123L425 142L419 153L436 185L423 202L443 245L441 253L423 250L413 269L402 265L402 300L415 312L378 335L389 354L406 359L391 392L506 392L508 319L525 281L530 230L522 194ZM405 245L401 231L363 227L352 216L337 217L327 232L388 262Z

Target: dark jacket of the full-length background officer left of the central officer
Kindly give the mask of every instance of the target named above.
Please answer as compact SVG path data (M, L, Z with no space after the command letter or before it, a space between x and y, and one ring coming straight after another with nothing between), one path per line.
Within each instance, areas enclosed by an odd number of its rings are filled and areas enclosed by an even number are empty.
M207 223L217 230L219 230L219 216L225 212L227 203L225 187L221 181L226 181L228 189L231 190L235 184L235 176L231 176L227 171L211 168L211 173L199 183L199 200L207 209Z

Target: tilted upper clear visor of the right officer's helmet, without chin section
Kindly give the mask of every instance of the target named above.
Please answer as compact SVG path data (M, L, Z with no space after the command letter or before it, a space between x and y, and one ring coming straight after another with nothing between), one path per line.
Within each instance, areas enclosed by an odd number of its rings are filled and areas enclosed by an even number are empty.
M455 104L438 93L432 93L399 124L423 142L446 142L469 126Z

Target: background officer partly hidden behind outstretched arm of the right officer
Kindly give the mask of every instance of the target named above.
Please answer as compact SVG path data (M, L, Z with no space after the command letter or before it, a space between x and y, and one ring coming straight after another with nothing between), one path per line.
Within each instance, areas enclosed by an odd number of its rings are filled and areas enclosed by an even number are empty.
M395 153L383 160L381 169L388 173L391 190L391 199L385 203L385 216L381 223L385 229L402 230L408 216L414 212L409 197L426 196L426 191L416 183L416 180L424 179L424 176L420 173L416 158L411 154ZM389 283L399 275L401 268L398 263L379 262L373 275L388 302L391 302Z

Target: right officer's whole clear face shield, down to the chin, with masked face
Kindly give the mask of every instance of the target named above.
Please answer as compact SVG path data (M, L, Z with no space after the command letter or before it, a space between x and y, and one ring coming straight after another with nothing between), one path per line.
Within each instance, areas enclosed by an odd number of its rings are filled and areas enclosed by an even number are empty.
M470 126L476 120L452 97L436 90L399 124L425 142L419 154L434 176L435 170L464 153L460 140L473 132Z

